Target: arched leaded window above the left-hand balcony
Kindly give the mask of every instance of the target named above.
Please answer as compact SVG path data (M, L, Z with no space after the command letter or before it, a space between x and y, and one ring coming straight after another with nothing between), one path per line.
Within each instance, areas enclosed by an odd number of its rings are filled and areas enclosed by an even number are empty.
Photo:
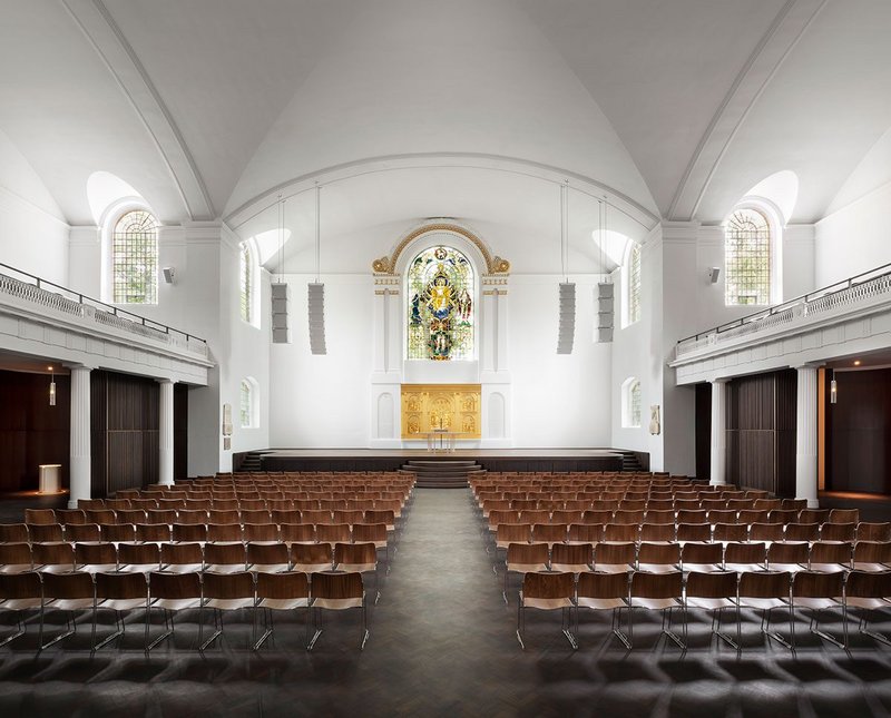
M145 209L128 212L111 233L116 304L158 303L158 223Z

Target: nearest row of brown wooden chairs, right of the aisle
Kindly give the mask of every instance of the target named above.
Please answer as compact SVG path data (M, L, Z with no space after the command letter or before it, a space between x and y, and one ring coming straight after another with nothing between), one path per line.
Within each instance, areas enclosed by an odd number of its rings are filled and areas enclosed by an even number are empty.
M712 633L742 651L741 609L762 611L761 631L786 648L795 650L795 611L814 612L811 631L823 639L848 649L849 609L865 611L860 632L889 643L885 636L869 630L869 612L891 608L891 571L868 573L822 573L816 571L722 571L698 572L620 571L611 573L536 572L525 573L518 594L517 639L526 648L523 636L526 610L529 608L562 614L561 631L574 649L578 648L578 612L609 610L613 612L611 632L630 650L634 648L634 612L656 610L663 613L662 635L687 650L687 611L712 611ZM679 609L679 635L674 629L673 612ZM721 614L731 609L736 614L735 640L722 631ZM775 609L787 612L789 635L771 630L770 616ZM820 613L840 609L842 613L841 639L820 629ZM621 631L621 611L627 614L627 633ZM575 635L571 616L575 612ZM666 616L667 614L667 616ZM667 620L666 620L667 619ZM766 620L765 620L766 619Z

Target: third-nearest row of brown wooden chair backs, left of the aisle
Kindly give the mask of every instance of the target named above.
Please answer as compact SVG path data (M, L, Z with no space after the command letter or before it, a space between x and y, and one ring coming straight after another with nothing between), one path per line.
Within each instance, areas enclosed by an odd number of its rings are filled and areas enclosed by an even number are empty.
M267 541L314 542L363 540L395 541L392 512L375 523L124 523L124 524L0 524L0 547L6 543L76 541Z

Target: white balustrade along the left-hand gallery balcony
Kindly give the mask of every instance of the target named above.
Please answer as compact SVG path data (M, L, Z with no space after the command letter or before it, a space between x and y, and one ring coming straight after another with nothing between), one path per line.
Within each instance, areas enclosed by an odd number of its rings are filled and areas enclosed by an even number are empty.
M2 264L0 264L0 267L11 269L25 277L19 279L8 274L0 274L0 302L2 302L3 296L25 299L30 304L68 314L84 322L94 322L121 332L138 334L168 346L193 352L204 357L208 356L207 343L197 336L192 336L179 330L124 312L65 287L41 281L30 274L14 269L14 267L8 267ZM41 284L59 289L59 292L46 289ZM62 292L70 296L65 296Z

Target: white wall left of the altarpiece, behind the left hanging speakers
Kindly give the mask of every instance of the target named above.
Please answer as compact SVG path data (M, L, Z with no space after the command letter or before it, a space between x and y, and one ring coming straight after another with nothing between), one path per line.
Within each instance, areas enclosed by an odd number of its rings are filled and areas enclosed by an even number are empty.
M273 277L276 282L278 277ZM291 344L270 347L270 444L283 447L360 447L371 439L373 278L322 275L326 355L310 353L307 288L291 284ZM271 342L268 332L265 342ZM394 397L399 401L399 397Z

